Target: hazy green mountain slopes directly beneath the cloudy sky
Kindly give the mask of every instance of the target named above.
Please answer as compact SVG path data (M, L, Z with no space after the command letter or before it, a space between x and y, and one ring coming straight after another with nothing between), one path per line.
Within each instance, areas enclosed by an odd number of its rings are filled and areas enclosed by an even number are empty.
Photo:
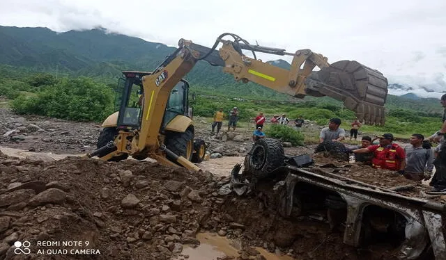
M193 39L192 39L193 40ZM88 76L112 86L123 70L153 70L175 50L157 42L106 33L105 29L56 33L47 28L18 28L0 26L0 76L14 79L23 74L47 72L54 76ZM289 68L285 60L270 64ZM330 98L305 97L295 99L255 83L240 83L200 61L185 76L192 92L203 95L240 97L269 101L317 101L337 104ZM56 74L57 71L57 74ZM387 108L403 108L429 114L441 112L438 101L404 99L389 95Z

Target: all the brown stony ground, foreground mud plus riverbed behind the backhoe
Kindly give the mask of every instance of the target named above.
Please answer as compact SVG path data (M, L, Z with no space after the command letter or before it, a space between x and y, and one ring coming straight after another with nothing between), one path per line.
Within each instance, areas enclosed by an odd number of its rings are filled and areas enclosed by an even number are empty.
M82 154L95 149L100 131L99 124L21 117L4 108L0 117L0 147ZM201 122L197 137L209 143L212 154L244 156L252 145L251 131L215 139L208 128ZM312 151L314 146L286 148L288 154ZM241 241L238 259L263 259L255 247L296 259L391 257L382 248L371 254L344 245L342 234L330 233L326 222L284 220L261 194L219 195L227 181L212 172L147 161L0 154L0 259L188 259L183 247L199 244L199 231ZM29 241L31 254L16 255L15 241ZM42 241L82 241L82 246Z

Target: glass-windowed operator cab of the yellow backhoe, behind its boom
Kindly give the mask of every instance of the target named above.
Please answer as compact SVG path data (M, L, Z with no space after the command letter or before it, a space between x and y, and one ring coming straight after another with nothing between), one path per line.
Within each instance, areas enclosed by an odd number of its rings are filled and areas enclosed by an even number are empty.
M142 85L143 76L151 75L151 72L123 72L123 77L118 81L114 102L114 111L118 113L118 129L140 129L142 119L142 106L144 106L144 87ZM181 79L171 90L166 111L162 120L162 129L176 115L185 115L192 118L192 111L189 108L189 83Z

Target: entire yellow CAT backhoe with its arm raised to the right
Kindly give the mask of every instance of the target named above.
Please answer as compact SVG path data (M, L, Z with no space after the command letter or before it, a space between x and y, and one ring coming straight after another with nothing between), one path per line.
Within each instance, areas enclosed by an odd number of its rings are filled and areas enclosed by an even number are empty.
M223 40L231 36L232 40ZM220 49L217 46L222 44ZM243 54L250 51L253 57ZM256 58L256 52L293 56L290 70ZM356 61L328 59L309 49L295 53L249 44L238 35L223 33L208 48L181 39L178 49L153 72L123 72L116 98L119 109L103 122L98 149L89 157L120 161L150 157L164 165L199 170L206 144L194 139L192 113L188 106L189 84L183 80L199 60L223 67L236 81L252 81L272 90L303 98L328 96L344 102L366 124L385 123L387 79ZM320 68L313 71L315 67Z

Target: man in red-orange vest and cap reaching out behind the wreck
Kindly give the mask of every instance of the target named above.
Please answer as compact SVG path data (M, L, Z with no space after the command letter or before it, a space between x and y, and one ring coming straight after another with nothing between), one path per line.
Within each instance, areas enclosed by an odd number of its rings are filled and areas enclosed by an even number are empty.
M374 158L371 159L371 165L377 169L387 169L397 171L399 174L404 174L406 168L406 152L403 147L396 143L392 133L385 133L383 136L378 136L379 145L370 145L367 148L355 149L354 153L373 152Z

